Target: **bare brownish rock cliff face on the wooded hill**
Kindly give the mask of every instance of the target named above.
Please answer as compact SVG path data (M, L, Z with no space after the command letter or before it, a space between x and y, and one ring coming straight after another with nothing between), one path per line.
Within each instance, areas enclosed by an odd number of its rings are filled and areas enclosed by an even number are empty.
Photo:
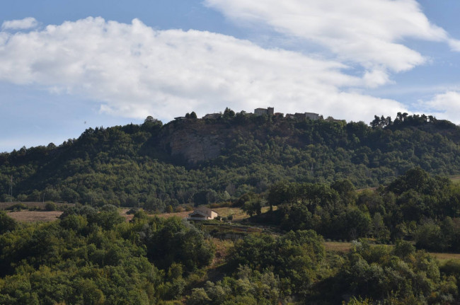
M171 150L172 156L180 155L188 163L200 163L219 156L225 146L222 141L224 133L226 130L219 125L180 122L168 127L168 135L163 138L163 146Z

